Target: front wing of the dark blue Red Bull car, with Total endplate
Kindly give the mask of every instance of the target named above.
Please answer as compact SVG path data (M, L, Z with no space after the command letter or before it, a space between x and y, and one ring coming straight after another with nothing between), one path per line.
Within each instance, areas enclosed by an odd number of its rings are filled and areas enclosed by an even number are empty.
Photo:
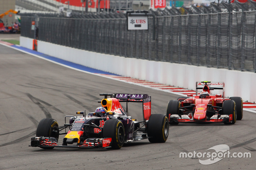
M112 138L88 138L81 145L58 145L55 137L32 137L31 147L62 147L62 148L108 148Z

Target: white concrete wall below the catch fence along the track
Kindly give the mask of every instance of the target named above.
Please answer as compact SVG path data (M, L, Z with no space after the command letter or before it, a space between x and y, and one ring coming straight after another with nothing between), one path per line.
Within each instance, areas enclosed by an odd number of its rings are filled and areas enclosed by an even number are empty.
M20 37L20 40L20 45L23 47L28 48L32 44L32 39ZM244 101L256 101L256 95L254 95L256 94L254 88L256 73L126 58L60 46L44 41L38 41L37 44L38 52L63 60L122 76L185 89L196 90L196 81L225 82L226 97L240 96Z

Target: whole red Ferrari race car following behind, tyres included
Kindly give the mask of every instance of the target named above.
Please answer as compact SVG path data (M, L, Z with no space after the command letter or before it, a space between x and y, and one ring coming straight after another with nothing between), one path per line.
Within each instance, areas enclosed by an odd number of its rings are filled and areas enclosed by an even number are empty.
M243 100L241 97L225 99L224 82L196 82L196 95L170 100L166 115L170 124L180 122L235 124L243 118ZM222 95L211 95L212 90L222 90ZM198 95L198 90L202 90Z

